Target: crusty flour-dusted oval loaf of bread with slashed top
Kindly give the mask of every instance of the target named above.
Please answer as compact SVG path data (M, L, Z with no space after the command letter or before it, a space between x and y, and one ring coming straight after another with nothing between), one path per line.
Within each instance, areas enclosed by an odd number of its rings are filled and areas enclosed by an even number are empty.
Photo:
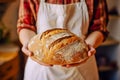
M34 36L28 49L31 58L50 65L80 63L88 58L88 47L78 36L67 29L50 29Z

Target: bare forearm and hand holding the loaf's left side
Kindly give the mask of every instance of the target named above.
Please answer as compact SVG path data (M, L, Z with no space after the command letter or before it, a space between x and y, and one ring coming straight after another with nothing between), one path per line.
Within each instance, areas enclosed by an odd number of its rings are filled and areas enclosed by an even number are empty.
M23 45L22 51L25 55L27 55L28 57L31 57L31 58L34 54L30 50L28 50L28 43L31 40L31 38L35 35L36 35L36 33L29 30L29 29L22 29L19 32L19 39L20 39L20 42ZM48 64L41 63L37 60L34 60L34 61L38 62L39 64L44 65L44 66L51 66L51 65L48 65Z

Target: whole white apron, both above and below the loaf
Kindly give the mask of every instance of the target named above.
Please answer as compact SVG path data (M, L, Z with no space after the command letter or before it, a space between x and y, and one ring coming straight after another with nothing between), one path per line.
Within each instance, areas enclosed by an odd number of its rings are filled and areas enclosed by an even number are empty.
M41 0L37 17L37 32L52 28L67 28L83 39L87 34L89 16L85 0L72 4L51 4ZM59 65L47 67L28 58L24 80L98 80L95 57L77 67Z

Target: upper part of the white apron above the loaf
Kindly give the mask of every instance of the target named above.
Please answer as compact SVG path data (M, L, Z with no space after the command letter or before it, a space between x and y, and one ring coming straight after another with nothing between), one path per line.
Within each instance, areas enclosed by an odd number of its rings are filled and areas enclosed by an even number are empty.
M89 26L89 16L84 0L64 5L45 3L44 1L41 3L37 19L39 34L51 28L66 28L85 38Z

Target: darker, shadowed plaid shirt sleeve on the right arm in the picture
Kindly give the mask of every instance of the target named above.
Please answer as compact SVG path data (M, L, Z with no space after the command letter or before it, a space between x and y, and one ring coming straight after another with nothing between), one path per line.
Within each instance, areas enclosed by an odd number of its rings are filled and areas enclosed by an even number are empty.
M93 18L89 26L88 34L93 31L100 31L104 35L104 40L108 36L107 30L108 10L106 0L94 0Z

